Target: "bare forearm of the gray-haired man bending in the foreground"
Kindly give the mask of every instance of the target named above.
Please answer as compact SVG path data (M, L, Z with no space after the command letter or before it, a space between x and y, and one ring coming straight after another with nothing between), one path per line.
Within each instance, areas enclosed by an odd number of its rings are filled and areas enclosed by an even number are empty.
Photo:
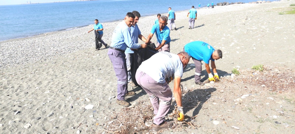
M174 77L174 88L173 88L173 94L175 97L175 102L178 107L182 107L182 94L181 94L181 89L180 89L180 76L175 76Z

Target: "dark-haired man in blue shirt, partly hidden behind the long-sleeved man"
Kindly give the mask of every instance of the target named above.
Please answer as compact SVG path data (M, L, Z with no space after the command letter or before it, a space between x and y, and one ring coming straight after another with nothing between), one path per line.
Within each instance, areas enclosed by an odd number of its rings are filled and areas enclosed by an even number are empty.
M140 18L140 13L137 11L132 11L132 13L135 15L134 23L130 27L130 33L131 38L134 43L138 43L138 38L142 40L143 42L146 42L146 39L144 36L141 35L141 32L137 26L137 22ZM136 87L136 85L132 82L131 79L131 61L133 58L133 51L130 48L126 48L125 55L126 55L126 65L127 65L127 75L128 75L128 85L132 87Z

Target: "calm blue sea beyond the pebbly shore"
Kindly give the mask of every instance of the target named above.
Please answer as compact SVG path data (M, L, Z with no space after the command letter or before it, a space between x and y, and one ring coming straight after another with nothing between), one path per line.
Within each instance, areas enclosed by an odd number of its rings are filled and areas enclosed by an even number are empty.
M57 0L61 1L61 0ZM222 0L245 2L256 0ZM141 16L188 10L212 0L97 0L0 6L0 41L123 19L136 10ZM213 0L214 4L221 1Z

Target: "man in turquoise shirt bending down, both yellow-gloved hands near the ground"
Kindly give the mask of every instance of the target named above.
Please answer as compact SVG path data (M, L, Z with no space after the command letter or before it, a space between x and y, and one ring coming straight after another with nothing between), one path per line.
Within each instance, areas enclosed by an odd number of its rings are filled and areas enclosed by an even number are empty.
M201 71L202 63L205 62L206 71L209 76L209 81L215 81L214 77L219 79L219 76L216 71L215 60L222 58L222 51L215 50L211 45L202 42L202 41L193 41L186 44L183 48L183 51L189 54L192 57L196 69L195 69L195 83L203 86L204 83L201 82ZM211 67L214 73L214 77L210 71L209 61L211 60Z

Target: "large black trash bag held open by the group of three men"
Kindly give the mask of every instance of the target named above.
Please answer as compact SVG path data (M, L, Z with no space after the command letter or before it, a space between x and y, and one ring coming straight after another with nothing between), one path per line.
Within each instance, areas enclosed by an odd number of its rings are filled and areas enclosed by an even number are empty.
M146 61L154 54L158 53L158 50L155 48L155 43L148 43L147 48L138 48L137 50L134 50L131 62L131 79L136 86L139 86L135 79L136 71L143 61Z

